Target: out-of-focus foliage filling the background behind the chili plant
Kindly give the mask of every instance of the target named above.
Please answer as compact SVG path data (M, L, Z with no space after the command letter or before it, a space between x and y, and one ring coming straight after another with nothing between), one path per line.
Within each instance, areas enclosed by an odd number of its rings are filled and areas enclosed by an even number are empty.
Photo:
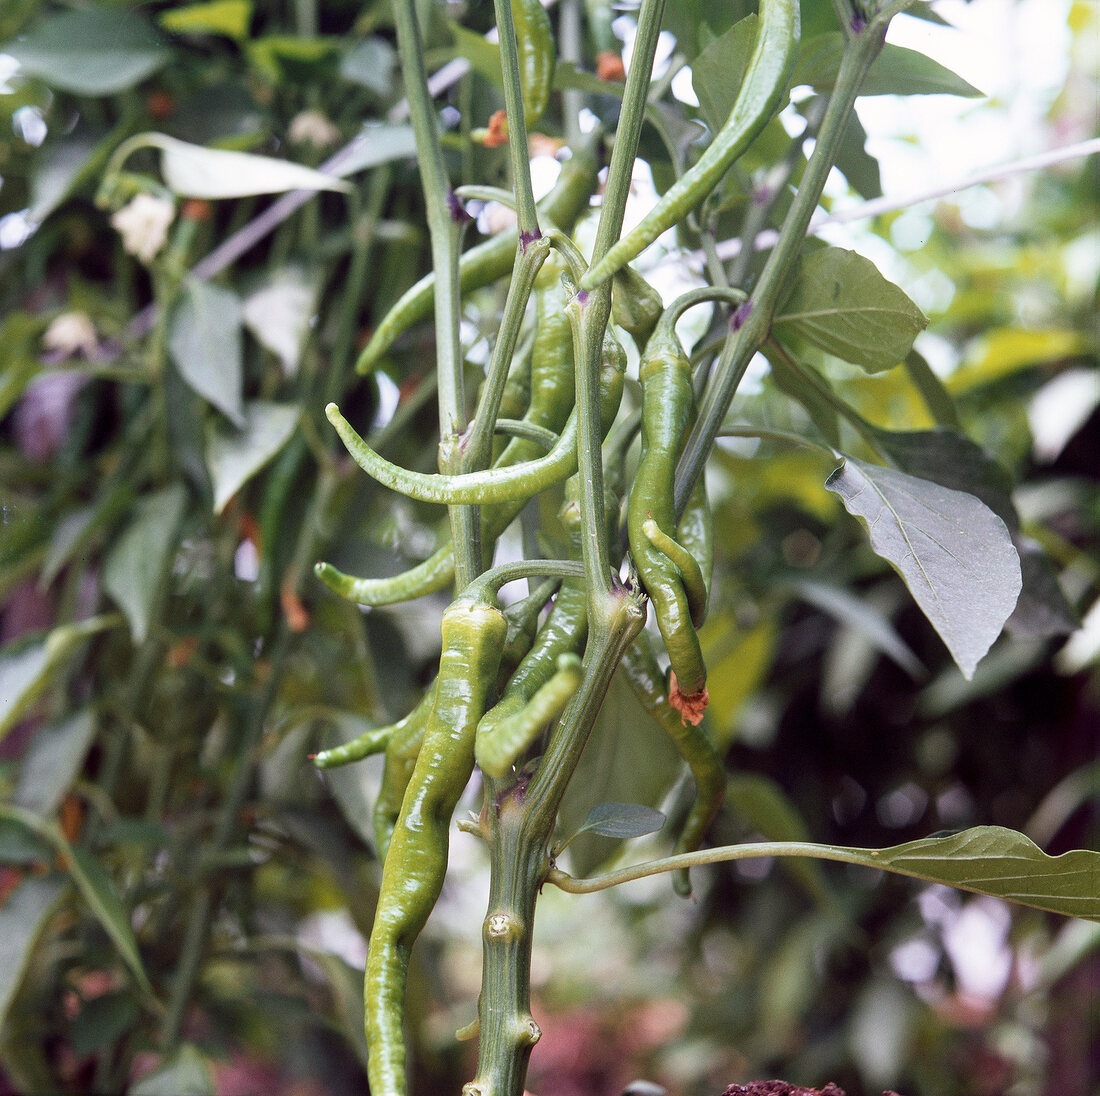
M483 33L492 4L418 4L430 67L465 54L476 74L453 22ZM556 21L576 25L564 7ZM691 63L751 6L670 8ZM807 31L827 29L831 6L803 8ZM1041 144L1096 132L1100 17L1059 11L1072 56ZM591 72L592 43L576 44L570 64ZM380 774L321 780L307 756L410 706L442 603L364 614L310 566L392 572L446 536L438 511L352 470L322 416L339 399L391 459L433 462L430 328L375 374L351 369L429 262L388 2L13 0L4 54L20 64L0 56L0 1092L363 1092ZM613 95L562 79L614 124ZM461 76L442 98L454 178L506 184L506 151L469 140L501 106L493 83ZM974 111L1004 124L1003 106ZM697 113L676 110L681 127ZM556 95L550 138L571 131L561 111ZM175 204L151 261L95 200L141 131L317 166L365 124L351 190L311 197L209 281L188 272L283 199ZM861 149L831 200L879 193ZM646 151L662 185L664 145ZM151 152L127 171L170 200ZM961 191L843 238L928 313L917 346L1019 484L1023 533L1065 593L972 681L822 490L827 461L734 442L713 461L708 721L732 774L715 843L880 846L992 823L1050 853L1097 847L1098 182L1092 157L981 188L996 217ZM746 185L732 182L719 235ZM697 246L696 228L680 242ZM471 302L474 376L501 300L496 286ZM899 371L854 383L818 364L872 423L930 425ZM750 414L789 421L776 381L754 384ZM684 809L668 757L631 738L636 715L613 693L578 777L584 809ZM620 852L574 851L578 870ZM471 1071L452 1035L474 1015L486 868L468 839L452 856L414 960L419 1093L458 1092ZM784 1076L849 1096L1100 1093L1097 925L836 866L694 877L690 902L661 879L544 896L532 1092Z

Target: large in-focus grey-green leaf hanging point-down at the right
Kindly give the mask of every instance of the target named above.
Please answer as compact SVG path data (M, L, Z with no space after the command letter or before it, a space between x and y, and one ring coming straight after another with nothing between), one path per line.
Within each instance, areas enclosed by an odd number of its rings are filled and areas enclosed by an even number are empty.
M826 481L868 527L965 677L1020 595L1020 557L1004 522L974 495L847 458Z

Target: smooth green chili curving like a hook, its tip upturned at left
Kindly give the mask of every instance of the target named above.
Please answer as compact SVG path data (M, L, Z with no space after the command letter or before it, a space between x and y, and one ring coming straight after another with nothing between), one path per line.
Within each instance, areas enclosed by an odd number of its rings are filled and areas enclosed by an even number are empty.
M601 401L601 410L617 410L623 396L623 379L626 373L626 353L622 344L609 331L604 338L603 362L601 365L601 390L607 399ZM610 427L604 420L604 429ZM340 414L336 404L324 408L329 421L336 427L341 441L352 459L364 472L374 476L384 486L399 491L419 502L481 504L499 503L530 498L576 471L576 408L570 414L558 443L544 457L514 464L509 468L491 468L482 472L462 475L441 475L413 472L392 464L378 456L356 432L354 427Z

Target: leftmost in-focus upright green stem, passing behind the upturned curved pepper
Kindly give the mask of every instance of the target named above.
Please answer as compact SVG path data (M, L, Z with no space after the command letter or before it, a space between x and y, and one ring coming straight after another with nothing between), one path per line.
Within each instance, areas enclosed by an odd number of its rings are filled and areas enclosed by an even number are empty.
M461 434L466 426L466 402L462 355L459 348L459 234L460 213L447 177L439 143L424 46L414 0L394 0L397 50L409 100L409 120L416 138L417 160L428 209L431 264L436 272L436 373L439 384L439 429L442 439ZM457 446L440 446L440 471L460 472L462 453ZM449 509L451 544L454 545L454 580L461 589L481 570L481 529L477 509L457 505Z

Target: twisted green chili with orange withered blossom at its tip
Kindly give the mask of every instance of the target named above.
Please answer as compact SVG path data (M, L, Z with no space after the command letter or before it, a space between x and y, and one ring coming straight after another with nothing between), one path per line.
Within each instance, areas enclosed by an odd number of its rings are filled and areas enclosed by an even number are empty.
M691 362L671 324L660 324L639 365L641 380L641 459L627 498L627 536L638 577L653 603L675 678L672 699L685 719L698 722L705 706L706 667L683 576L653 545L652 522L672 537L676 526L673 485L680 449L694 417ZM679 547L679 546L678 546ZM698 577L702 587L702 578ZM705 587L702 606L705 607ZM698 594L695 598L698 610Z

